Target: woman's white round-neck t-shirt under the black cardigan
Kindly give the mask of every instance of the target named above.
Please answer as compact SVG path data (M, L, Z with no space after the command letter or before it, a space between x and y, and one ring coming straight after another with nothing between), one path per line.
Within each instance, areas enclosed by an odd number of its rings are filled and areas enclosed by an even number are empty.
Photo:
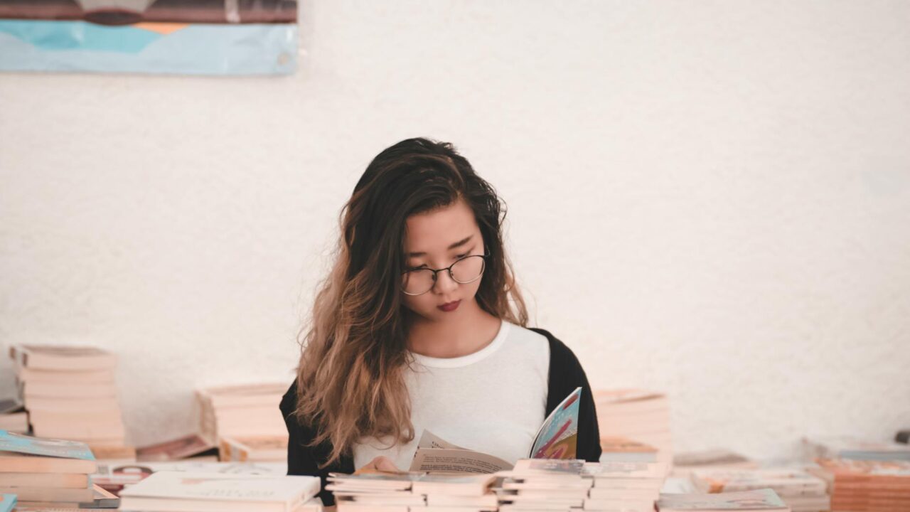
M493 341L462 357L412 353L405 370L414 440L407 445L374 437L354 446L354 467L387 456L407 470L424 429L453 445L514 463L529 456L544 419L550 344L542 334L503 321Z

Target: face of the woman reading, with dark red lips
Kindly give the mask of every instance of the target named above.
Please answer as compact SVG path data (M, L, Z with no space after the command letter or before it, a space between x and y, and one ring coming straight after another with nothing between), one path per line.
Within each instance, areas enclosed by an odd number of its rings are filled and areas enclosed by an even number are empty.
M463 256L484 253L480 227L474 212L463 200L410 216L405 228L404 249L405 270L444 269ZM459 267L462 265L459 263ZM440 271L429 292L422 295L402 292L401 296L410 311L430 321L444 322L476 309L466 306L474 305L474 295L482 279L481 276L474 282L459 283L452 281L448 271ZM440 307L443 305L446 307Z

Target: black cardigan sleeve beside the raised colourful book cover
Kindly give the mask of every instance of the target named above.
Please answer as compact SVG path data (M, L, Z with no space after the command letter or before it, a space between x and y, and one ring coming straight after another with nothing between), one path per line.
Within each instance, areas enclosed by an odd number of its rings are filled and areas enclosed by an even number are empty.
M543 329L531 331L541 333L550 342L550 380L547 388L547 410L550 415L556 406L576 387L581 387L581 403L578 412L578 445L576 457L588 462L597 462L601 459L601 432L597 426L597 410L594 407L594 396L591 393L591 384L584 374L578 358L571 349L551 333Z

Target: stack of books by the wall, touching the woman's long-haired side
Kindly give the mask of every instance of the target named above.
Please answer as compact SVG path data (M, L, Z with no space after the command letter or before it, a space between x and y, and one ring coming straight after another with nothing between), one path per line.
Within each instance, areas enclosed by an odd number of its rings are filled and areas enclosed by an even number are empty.
M212 445L223 437L271 437L273 443L288 442L278 404L287 383L245 384L197 390L200 433ZM287 453L285 454L287 456Z

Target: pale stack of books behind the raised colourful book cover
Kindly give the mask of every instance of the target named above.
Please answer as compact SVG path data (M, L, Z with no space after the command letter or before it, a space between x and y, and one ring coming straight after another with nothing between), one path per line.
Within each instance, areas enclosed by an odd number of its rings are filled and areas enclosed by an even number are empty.
M602 437L627 437L652 445L658 450L658 460L672 466L670 402L665 394L641 389L600 390L594 392L594 403Z

